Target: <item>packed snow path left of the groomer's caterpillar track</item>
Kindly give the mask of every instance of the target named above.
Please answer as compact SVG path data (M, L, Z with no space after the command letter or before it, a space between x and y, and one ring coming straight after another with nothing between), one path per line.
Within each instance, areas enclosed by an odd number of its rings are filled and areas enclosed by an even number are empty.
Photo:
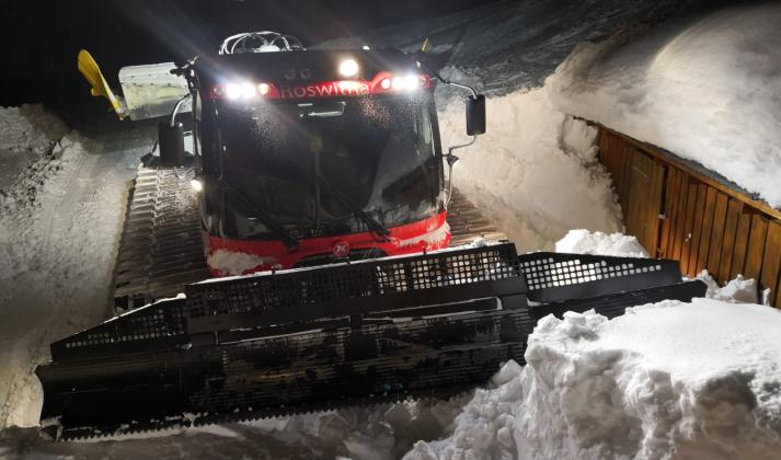
M48 344L110 313L128 181L153 131L71 133L19 174L0 207L0 427L37 424Z

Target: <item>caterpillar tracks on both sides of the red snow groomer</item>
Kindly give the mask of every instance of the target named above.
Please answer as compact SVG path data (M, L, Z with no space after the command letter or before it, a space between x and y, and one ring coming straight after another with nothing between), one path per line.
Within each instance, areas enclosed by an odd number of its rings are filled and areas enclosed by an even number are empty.
M116 260L117 311L175 297L186 284L209 277L192 179L192 168L139 166ZM468 244L479 237L489 241L507 239L458 189L453 191L447 220L451 246Z

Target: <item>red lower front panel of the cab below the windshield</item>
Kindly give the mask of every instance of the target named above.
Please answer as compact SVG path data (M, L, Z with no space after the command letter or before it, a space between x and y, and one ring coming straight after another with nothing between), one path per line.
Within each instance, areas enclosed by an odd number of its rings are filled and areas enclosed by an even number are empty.
M417 222L389 228L386 241L370 232L299 240L295 251L282 241L226 240L208 235L207 263L213 276L242 275L291 268L313 255L331 255L348 250L378 249L388 255L410 254L447 248L450 229L441 212Z

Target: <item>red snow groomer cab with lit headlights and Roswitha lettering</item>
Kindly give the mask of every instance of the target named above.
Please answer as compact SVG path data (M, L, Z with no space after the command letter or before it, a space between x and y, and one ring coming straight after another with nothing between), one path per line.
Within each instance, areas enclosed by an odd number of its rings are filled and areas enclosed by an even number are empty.
M447 246L435 72L395 49L289 43L223 45L182 70L213 275Z

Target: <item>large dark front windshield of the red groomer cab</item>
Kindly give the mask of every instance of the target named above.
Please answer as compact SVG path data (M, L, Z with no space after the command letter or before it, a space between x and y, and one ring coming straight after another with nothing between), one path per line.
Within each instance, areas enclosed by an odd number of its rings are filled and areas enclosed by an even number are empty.
M441 158L429 93L223 106L218 126L230 233L268 232L261 209L301 237L366 231L439 210ZM249 203L248 203L249 202Z

